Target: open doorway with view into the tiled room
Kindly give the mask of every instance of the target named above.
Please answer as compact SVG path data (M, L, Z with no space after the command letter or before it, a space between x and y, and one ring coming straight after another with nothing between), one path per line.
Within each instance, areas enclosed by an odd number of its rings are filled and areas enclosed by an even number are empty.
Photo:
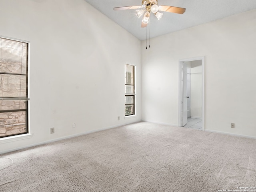
M179 126L204 130L204 57L179 61Z

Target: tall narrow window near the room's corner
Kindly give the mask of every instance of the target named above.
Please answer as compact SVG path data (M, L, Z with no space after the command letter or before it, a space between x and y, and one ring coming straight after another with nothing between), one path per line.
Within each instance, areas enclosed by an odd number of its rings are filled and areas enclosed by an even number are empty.
M135 67L125 64L125 116L135 114Z

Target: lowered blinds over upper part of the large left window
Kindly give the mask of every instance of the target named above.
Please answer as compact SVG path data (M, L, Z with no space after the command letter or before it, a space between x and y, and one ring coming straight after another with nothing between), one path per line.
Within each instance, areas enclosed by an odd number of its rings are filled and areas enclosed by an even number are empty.
M28 43L0 38L0 98L28 98Z

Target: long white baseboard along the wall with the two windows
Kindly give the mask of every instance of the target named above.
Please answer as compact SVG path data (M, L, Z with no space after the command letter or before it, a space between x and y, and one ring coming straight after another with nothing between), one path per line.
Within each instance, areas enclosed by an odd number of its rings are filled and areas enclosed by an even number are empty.
M138 122L140 122L140 121L138 121ZM137 122L133 122L133 123L137 123ZM133 124L133 123L129 123L129 124ZM26 146L22 146L22 147L10 149L10 150L0 151L0 154L9 153L9 152L13 152L13 151L17 151L17 150L21 150L21 149L25 149L25 148L30 148L30 147L34 147L34 146L39 146L39 145L43 145L43 144L47 144L47 143L51 143L51 142L55 142L55 141L60 141L60 140L68 139L68 138L73 138L73 137L78 137L78 136L82 136L82 135L87 135L87 134L90 134L90 133L99 132L99 131L103 131L103 130L107 130L107 129L117 128L117 127L124 126L124 125L128 125L128 124L121 124L121 125L117 125L117 126L110 126L110 127L100 128L100 129L96 129L96 130L92 130L92 131L88 131L88 132L84 132L84 133L64 136L64 137L60 137L60 138L56 138L56 139L52 139L52 140L47 140L47 141L36 143L36 144L32 144L32 145L26 145Z

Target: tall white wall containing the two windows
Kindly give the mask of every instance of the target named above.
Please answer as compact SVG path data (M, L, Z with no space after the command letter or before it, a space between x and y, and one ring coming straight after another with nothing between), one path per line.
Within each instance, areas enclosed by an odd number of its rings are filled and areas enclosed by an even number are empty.
M0 144L0 152L141 120L137 38L84 0L1 0L0 7L0 35L30 41L34 134ZM124 119L125 63L137 66L138 116L130 119Z

